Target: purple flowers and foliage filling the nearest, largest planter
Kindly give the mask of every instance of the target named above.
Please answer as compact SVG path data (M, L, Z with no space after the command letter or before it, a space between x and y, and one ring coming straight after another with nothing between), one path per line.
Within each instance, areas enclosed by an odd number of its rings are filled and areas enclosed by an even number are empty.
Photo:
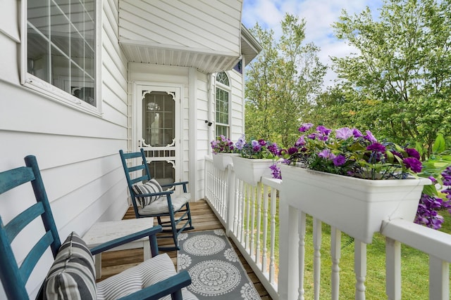
M369 130L364 134L347 127L314 129L306 123L299 131L302 135L295 145L280 151L287 164L364 179L404 179L421 171L417 150L378 142Z

